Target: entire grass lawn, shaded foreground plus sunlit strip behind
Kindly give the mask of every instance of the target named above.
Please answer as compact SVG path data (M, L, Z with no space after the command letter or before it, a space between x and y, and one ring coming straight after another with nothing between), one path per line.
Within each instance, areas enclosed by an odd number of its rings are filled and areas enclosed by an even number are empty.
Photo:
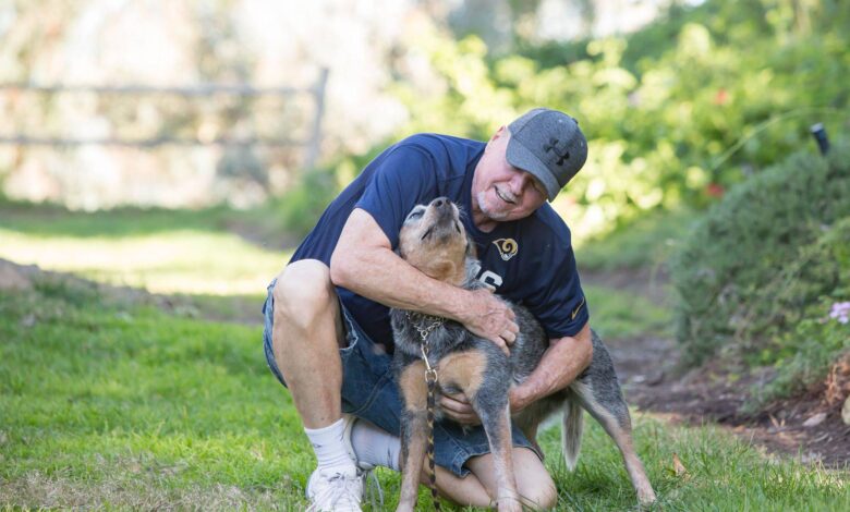
M230 294L244 293L240 300L256 301L258 318L262 291L286 255L231 237L203 216L191 223L135 214L130 228L108 216L38 215L0 217L0 257L25 264L34 261L22 255L32 254L50 270L204 294L202 313L163 312L48 278L31 292L0 292L0 508L306 508L314 458L287 392L265 366L260 327L208 319L227 318ZM187 236L209 243L181 245ZM146 252L134 245L142 239L179 257L135 258ZM71 265L86 260L98 264ZM160 263L156 272L151 260ZM607 336L663 330L668 321L660 307L619 291L587 293ZM629 316L634 309L644 314ZM658 509L850 510L847 472L769 459L714 428L634 419ZM574 473L558 460L557 427L542 434L559 510L632 508L614 443L587 425ZM673 470L673 453L687 475ZM378 476L390 510L398 475Z

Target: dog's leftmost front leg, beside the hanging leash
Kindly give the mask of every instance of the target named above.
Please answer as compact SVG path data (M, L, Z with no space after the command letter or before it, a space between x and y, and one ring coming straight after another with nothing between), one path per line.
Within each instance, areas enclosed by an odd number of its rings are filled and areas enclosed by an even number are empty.
M425 365L417 361L401 370L399 388L404 399L401 413L401 496L397 512L413 512L427 443L427 385Z

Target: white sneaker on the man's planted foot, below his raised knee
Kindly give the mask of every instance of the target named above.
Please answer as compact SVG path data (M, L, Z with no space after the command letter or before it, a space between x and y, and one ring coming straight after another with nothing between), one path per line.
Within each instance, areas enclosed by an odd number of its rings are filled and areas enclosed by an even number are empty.
M316 470L307 480L307 512L361 512L363 473L353 470Z

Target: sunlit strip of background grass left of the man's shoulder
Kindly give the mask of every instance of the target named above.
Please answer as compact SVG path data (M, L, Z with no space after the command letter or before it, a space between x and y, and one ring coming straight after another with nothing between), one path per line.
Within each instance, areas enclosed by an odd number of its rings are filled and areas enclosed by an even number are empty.
M280 235L258 246L228 227L263 215L0 204L0 258L155 293L258 297L291 253L269 248Z

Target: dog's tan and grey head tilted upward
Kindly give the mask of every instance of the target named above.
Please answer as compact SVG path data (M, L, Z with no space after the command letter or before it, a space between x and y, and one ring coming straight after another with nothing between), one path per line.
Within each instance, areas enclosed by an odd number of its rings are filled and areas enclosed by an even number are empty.
M399 254L425 275L461 285L474 253L458 207L445 197L415 206L401 227Z

